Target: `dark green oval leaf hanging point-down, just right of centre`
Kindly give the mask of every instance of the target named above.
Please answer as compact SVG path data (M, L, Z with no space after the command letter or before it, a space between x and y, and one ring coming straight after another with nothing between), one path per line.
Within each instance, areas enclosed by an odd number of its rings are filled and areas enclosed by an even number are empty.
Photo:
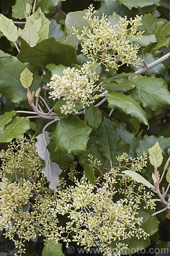
M119 141L116 124L104 117L103 122L95 132L95 136L95 142L100 152L106 158L112 159Z

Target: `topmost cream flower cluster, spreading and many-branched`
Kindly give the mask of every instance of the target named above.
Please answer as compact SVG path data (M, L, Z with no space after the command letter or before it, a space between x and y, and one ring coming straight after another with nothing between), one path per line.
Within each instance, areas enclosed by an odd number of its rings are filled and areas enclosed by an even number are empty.
M120 17L119 24L111 25L107 16L103 14L99 19L94 15L96 11L93 10L94 7L91 4L84 17L89 22L89 27L83 27L82 31L73 27L77 38L83 40L82 53L89 59L98 59L100 64L105 65L107 71L109 67L118 69L120 62L136 66L140 62L137 57L140 46L131 44L129 39L140 38L144 32L137 32L142 16L136 15L130 20L127 20L126 16ZM128 28L129 25L130 28Z

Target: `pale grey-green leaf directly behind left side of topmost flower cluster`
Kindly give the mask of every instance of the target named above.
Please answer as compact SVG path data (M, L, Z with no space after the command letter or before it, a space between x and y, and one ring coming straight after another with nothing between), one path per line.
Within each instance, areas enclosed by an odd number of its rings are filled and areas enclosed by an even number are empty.
M75 46L75 49L78 50L78 43L79 40L77 39L77 35L73 34L73 28L76 30L79 29L79 33L83 30L83 26L89 27L89 22L84 19L87 10L78 11L78 12L70 12L66 16L66 29L67 29L67 36L62 40L65 44L72 44Z

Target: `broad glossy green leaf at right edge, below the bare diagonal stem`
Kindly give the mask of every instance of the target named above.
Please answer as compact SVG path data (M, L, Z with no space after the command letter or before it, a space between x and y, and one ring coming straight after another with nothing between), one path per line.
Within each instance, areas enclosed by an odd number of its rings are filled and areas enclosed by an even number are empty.
M134 79L130 79L134 83ZM136 87L129 94L142 106L154 111L170 104L170 92L162 78L143 76L135 79Z

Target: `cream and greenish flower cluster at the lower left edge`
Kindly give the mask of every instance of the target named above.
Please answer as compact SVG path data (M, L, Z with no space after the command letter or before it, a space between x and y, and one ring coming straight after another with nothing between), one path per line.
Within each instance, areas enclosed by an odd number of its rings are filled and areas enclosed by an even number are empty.
M48 242L58 222L56 197L41 174L44 162L35 150L34 138L25 138L11 142L0 153L0 230L14 241L18 249L14 255L25 253L24 241L35 239L37 232L46 234Z

